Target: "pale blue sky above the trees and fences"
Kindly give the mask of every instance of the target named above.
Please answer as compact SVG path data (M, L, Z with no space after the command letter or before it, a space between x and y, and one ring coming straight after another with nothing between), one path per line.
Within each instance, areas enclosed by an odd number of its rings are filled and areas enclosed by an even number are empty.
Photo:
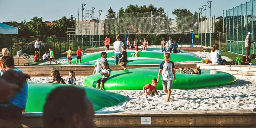
M223 10L239 6L246 1L250 0L212 0L211 15L222 16ZM172 11L177 8L187 8L194 13L202 8L202 5L209 6L207 0L0 0L0 22L29 21L33 17L42 17L44 21L58 20L63 16L70 17L70 15L77 17L77 8L79 8L81 19L82 4L86 4L85 9L95 7L94 19L99 17L99 10L107 14L111 7L118 12L121 7L126 9L130 4L138 6L152 4L157 8L162 7L166 13L168 12L170 18L175 18ZM209 16L210 8L207 7L206 17Z

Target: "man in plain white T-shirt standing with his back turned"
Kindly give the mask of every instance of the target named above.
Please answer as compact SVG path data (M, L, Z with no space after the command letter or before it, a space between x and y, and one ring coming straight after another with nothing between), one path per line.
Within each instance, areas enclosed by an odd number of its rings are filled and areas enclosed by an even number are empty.
M122 57L122 46L123 42L120 41L120 36L119 34L116 35L116 41L114 42L114 49L115 49L115 65L120 64L120 58Z

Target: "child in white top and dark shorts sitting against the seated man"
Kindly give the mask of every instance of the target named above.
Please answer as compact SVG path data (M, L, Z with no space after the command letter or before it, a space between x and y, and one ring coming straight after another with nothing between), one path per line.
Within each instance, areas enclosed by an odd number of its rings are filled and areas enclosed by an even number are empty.
M98 79L96 88L100 88L101 83L101 89L103 88L104 83L110 78L110 69L108 68L108 62L103 62L103 70L101 72L102 77Z

